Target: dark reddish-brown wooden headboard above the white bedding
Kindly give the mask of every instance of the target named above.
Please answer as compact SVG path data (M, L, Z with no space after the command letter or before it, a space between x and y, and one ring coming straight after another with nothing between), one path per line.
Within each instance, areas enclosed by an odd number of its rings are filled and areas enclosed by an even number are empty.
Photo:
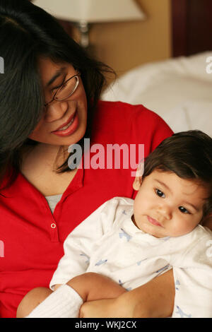
M212 50L212 1L171 0L172 57Z

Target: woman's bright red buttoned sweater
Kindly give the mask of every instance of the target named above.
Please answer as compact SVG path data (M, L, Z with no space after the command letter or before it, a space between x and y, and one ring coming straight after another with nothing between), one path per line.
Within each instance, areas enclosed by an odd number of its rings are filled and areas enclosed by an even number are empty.
M130 144L144 144L146 156L171 135L163 119L141 105L99 102L90 146L105 147L107 167L107 144L125 143L129 150ZM53 215L45 196L21 173L1 191L7 198L0 196L0 317L15 317L20 300L32 288L49 287L64 255L64 239L74 227L114 196L134 198L131 171L124 169L122 158L119 169L79 169Z

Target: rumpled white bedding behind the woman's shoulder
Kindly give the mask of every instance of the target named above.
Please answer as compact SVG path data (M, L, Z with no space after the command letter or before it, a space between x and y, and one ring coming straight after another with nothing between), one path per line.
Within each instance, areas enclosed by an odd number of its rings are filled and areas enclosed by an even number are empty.
M212 136L212 52L138 66L112 83L102 100L143 104L173 131L200 129Z

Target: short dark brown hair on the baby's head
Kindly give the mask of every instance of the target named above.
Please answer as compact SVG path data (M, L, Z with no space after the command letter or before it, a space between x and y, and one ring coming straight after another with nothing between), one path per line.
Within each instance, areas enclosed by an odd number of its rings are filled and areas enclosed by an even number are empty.
M182 131L166 138L148 155L143 177L154 170L174 172L208 189L203 218L212 213L212 138L202 131Z

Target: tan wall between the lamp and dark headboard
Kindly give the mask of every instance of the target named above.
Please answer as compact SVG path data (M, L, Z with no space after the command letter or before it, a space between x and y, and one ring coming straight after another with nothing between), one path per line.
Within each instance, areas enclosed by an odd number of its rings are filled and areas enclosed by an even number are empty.
M137 0L146 20L98 23L90 29L95 56L118 76L134 66L171 56L170 0ZM75 32L76 39L78 38Z

